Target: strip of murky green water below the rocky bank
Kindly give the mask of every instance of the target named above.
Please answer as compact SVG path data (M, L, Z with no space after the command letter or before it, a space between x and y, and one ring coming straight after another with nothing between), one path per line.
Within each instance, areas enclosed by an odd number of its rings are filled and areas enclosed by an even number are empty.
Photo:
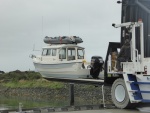
M23 98L23 97L12 97L12 96L0 96L0 105L7 105L8 107L11 107L9 109L18 109L19 103L22 103L23 109L32 109L37 107L61 107L64 105L68 105L68 101L64 99L57 100L54 99L43 99L43 98Z

